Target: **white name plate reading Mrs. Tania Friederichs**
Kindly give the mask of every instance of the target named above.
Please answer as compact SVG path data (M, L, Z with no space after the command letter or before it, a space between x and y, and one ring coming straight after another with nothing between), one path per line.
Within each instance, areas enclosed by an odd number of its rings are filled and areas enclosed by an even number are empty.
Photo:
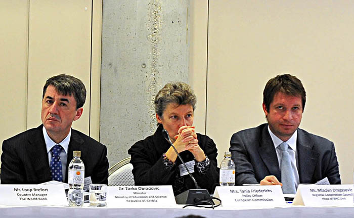
M217 186L213 197L226 208L286 205L280 186Z

